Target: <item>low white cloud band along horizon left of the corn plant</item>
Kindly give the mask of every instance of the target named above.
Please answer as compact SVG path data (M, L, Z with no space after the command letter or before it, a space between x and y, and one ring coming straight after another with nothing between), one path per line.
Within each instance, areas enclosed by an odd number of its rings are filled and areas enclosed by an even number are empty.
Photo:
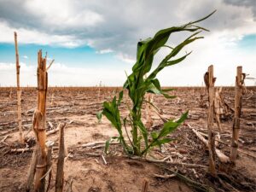
M15 70L14 63L0 63L1 86L15 86ZM128 73L130 73L129 70ZM51 86L96 86L100 81L106 86L122 86L125 83L125 70L67 67L61 63L54 63L49 68L48 82ZM20 85L37 85L36 66L20 63Z

